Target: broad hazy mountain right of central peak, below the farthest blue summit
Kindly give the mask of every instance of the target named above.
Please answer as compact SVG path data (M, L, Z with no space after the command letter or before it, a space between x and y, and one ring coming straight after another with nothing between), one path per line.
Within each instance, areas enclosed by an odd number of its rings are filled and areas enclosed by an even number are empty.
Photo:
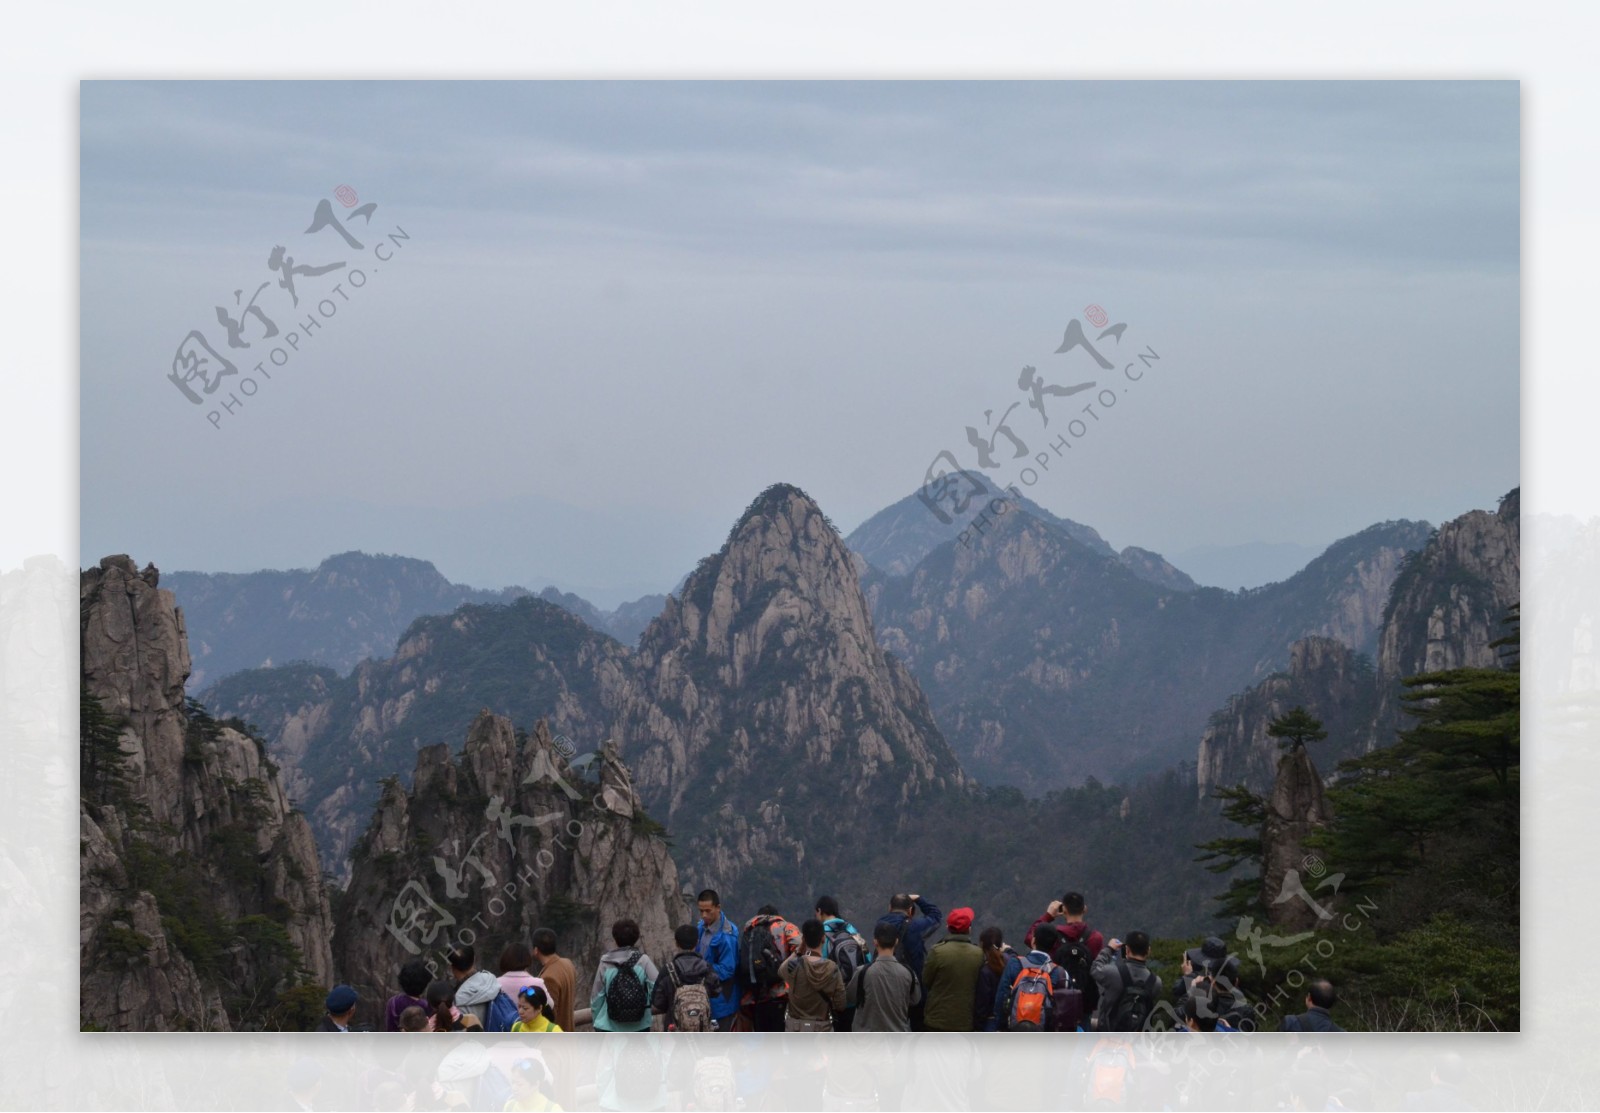
M1282 670L1299 638L1373 654L1402 558L1427 534L1379 523L1280 584L1179 590L1014 507L869 595L968 772L1045 792L1187 760L1211 710Z

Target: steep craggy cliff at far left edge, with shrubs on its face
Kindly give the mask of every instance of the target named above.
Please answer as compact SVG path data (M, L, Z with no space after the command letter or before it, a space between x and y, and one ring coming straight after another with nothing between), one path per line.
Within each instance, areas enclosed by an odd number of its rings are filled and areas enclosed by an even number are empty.
M259 1027L280 990L333 977L310 828L261 742L186 705L184 619L154 566L85 571L80 635L85 753L106 736L78 817L82 1019Z

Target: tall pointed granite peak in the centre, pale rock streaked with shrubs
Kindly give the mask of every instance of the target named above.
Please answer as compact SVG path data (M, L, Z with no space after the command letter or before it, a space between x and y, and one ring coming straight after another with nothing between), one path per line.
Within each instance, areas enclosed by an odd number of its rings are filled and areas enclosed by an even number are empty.
M878 646L851 553L795 488L755 499L645 630L637 664L616 734L710 884L760 880L805 908L861 856L853 832L891 832L966 782L915 680Z

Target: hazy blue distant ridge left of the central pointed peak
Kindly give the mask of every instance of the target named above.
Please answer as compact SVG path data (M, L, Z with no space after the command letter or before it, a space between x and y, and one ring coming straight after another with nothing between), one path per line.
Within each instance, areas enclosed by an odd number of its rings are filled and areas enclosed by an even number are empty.
M389 656L424 614L533 595L525 587L451 584L430 561L363 552L328 556L314 569L163 576L189 622L194 691L245 668L296 660L349 673L368 657ZM554 587L539 596L629 644L666 603L664 595L646 595L606 612Z

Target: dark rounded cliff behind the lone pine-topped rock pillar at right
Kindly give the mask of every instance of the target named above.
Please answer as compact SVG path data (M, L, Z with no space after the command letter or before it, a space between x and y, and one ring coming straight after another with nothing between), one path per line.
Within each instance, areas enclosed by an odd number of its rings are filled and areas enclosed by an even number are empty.
M1234 696L1211 716L1200 739L1195 777L1200 796L1218 785L1243 784L1267 792L1277 776L1280 747L1267 734L1272 720L1304 707L1322 720L1328 737L1317 744L1326 768L1362 753L1378 688L1373 664L1333 638L1302 638L1290 648L1290 668Z

